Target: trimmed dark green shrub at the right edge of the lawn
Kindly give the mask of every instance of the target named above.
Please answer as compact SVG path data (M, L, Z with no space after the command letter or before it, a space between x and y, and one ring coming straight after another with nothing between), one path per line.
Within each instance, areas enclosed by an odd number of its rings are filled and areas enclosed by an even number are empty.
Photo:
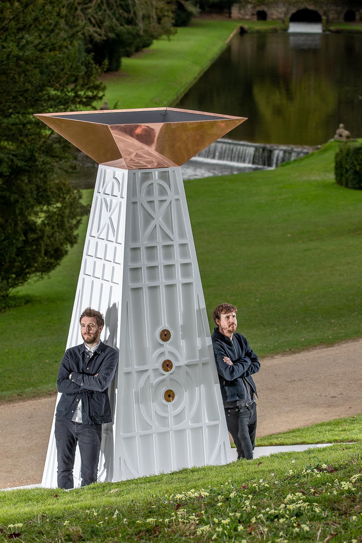
M337 185L362 190L362 145L342 143L334 158Z

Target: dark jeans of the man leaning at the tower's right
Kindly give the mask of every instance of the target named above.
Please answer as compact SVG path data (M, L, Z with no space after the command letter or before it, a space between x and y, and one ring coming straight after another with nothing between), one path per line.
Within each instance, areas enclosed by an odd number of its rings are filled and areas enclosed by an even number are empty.
M255 447L256 403L249 407L225 407L227 430L236 445L239 458L251 460Z

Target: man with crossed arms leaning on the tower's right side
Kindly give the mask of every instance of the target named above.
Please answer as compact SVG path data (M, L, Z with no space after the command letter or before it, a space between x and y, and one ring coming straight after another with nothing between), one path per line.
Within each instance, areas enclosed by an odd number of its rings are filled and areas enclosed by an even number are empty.
M236 445L239 458L251 460L255 447L256 386L252 375L259 371L257 355L242 334L235 333L237 308L231 304L215 307L217 326L212 334L227 429Z

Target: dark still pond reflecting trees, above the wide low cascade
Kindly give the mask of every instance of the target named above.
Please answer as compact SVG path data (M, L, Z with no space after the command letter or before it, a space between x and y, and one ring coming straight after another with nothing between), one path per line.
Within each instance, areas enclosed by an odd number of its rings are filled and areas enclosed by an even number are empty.
M227 137L318 145L344 123L362 136L362 35L244 34L177 107L240 115Z

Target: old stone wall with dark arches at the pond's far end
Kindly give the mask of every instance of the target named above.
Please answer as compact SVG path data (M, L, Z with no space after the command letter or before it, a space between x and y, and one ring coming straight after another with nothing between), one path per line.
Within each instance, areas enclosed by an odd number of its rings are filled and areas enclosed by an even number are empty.
M318 11L327 23L343 21L344 14L352 9L356 14L356 21L362 21L362 5L360 0L312 0L300 2L298 0L239 0L232 6L231 16L236 19L256 20L257 11L264 10L268 21L284 21L299 9L311 9Z

